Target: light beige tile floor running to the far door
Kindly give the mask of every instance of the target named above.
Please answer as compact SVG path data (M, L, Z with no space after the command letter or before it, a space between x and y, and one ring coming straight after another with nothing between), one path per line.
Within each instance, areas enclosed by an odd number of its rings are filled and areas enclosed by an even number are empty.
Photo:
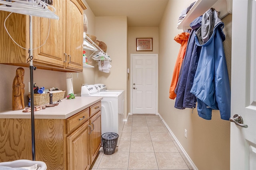
M120 136L119 136L120 137ZM119 146L90 170L193 170L158 115L129 115Z

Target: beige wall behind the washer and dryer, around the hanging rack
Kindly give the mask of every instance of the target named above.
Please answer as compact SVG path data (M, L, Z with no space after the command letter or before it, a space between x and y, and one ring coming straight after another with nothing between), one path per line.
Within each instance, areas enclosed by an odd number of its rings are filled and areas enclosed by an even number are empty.
M86 56L89 61L92 61L92 66L94 66L94 68L84 68L82 73L73 74L74 92L80 95L82 84L103 83L106 84L109 90L125 90L126 93L127 17L95 17L86 1L84 1L84 3L87 7L87 9L84 10L88 20L87 34L95 35L97 40L106 43L106 53L112 60L112 67L110 68L109 73L99 71L98 63L92 59L92 56L96 53L86 50Z

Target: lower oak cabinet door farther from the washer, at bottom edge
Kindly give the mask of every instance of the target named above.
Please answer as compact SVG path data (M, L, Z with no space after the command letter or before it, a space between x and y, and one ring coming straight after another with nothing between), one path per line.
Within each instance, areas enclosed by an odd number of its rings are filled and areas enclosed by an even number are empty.
M88 170L89 155L89 121L67 137L67 167L68 170Z

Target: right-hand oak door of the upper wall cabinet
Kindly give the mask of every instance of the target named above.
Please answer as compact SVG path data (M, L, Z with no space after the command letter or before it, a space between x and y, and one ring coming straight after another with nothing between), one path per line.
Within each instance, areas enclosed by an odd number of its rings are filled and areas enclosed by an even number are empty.
M66 11L66 68L82 71L83 69L83 25L84 8L80 0L68 0Z

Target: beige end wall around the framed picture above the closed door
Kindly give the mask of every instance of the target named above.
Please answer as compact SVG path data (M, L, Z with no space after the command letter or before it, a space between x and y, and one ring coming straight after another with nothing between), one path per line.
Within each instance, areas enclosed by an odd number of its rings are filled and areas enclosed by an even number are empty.
M151 38L153 51L136 51L136 38ZM158 54L158 27L128 27L128 68L130 67L131 54ZM128 76L128 113L130 113L130 76Z

